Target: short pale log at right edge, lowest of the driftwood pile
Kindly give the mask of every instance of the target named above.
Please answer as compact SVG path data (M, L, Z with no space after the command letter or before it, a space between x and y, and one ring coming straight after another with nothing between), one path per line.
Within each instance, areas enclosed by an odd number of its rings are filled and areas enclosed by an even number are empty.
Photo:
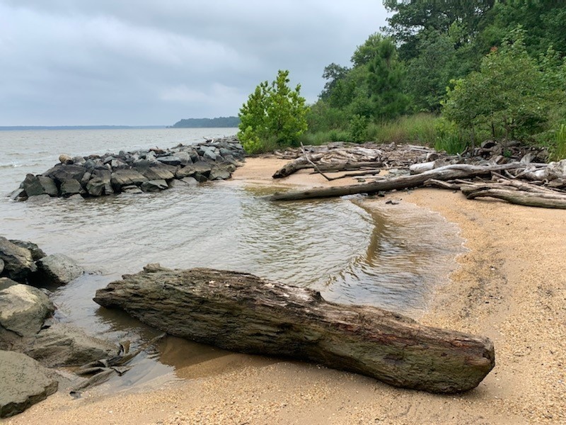
M507 200L507 202L517 205L566 210L566 195L560 193L527 192L524 190L516 190L516 188L512 190L481 184L462 186L461 190L468 199L497 198Z

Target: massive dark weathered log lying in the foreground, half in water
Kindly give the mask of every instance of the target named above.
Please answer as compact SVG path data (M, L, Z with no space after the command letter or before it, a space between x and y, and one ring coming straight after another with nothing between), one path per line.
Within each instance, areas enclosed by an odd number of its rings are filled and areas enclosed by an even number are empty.
M471 390L495 364L489 339L246 273L148 265L96 291L105 307L232 351L297 358L429 392Z

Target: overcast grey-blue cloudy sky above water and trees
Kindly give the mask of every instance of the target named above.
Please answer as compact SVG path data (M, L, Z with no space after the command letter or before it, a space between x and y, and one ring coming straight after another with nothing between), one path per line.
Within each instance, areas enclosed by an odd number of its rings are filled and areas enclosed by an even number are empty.
M381 0L0 0L0 126L238 115L278 69L313 103L387 16Z

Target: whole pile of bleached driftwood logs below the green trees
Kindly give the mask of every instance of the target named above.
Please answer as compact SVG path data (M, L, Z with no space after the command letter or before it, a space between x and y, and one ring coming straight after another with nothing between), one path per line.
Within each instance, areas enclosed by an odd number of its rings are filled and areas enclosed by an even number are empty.
M373 177L368 183L275 193L271 199L330 198L437 186L462 191L468 199L490 197L519 205L566 209L566 159L550 164L533 162L540 152L527 152L521 159L497 155L487 160L485 155L499 152L501 148L495 145L476 150L480 157L449 156L426 147L408 145L302 147L301 156L278 170L274 179L307 168L323 174L328 180L380 174L392 167L404 169L407 175L395 173ZM350 170L358 172L339 177L326 175Z

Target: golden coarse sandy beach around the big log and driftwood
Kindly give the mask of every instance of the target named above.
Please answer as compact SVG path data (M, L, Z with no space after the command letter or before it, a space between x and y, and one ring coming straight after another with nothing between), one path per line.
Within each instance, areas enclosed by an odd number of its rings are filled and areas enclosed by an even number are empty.
M285 162L250 158L234 181L277 186L331 183L301 172L271 174ZM230 183L226 183L230 184ZM389 193L455 223L466 254L417 319L488 336L496 366L473 391L432 395L300 362L233 353L177 371L151 388L81 399L60 391L4 424L565 424L566 212L466 200L417 189ZM203 373L206 370L207 373Z

